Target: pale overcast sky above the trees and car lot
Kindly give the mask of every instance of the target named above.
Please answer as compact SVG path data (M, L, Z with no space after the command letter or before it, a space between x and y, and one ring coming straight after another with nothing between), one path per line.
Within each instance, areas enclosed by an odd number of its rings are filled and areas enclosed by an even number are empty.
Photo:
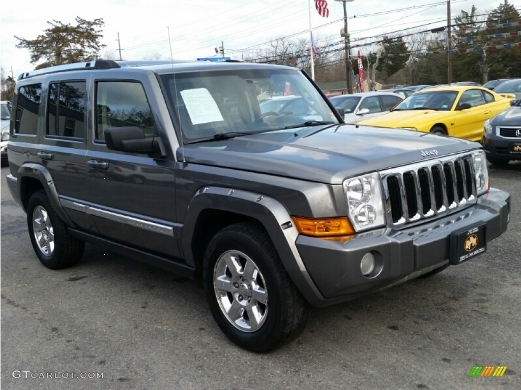
M329 0L329 18L322 18L311 1L312 26L317 37L340 41L343 27L342 3ZM473 5L479 12L497 8L503 0L452 0L452 17ZM510 1L516 7L516 1ZM170 58L170 32L173 58L196 59L216 56L214 48L224 42L225 55L242 59L270 40L288 36L308 37L309 0L58 0L2 2L0 10L0 64L6 74L11 67L18 74L34 69L29 51L17 49L14 35L34 39L48 27L47 21L75 23L77 16L105 22L103 54L119 59L118 32L122 58L136 60L152 57ZM445 1L355 0L348 2L348 30L352 42L360 38L389 34L413 28L431 29L446 25ZM418 30L416 30L418 31ZM318 46L318 45L317 45ZM353 55L355 52L353 51ZM43 60L39 61L43 62Z

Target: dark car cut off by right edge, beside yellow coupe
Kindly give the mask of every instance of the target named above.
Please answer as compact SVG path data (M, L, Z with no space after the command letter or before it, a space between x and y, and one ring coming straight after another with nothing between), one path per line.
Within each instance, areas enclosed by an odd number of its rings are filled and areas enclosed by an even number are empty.
M521 160L521 99L485 122L481 143L492 164Z

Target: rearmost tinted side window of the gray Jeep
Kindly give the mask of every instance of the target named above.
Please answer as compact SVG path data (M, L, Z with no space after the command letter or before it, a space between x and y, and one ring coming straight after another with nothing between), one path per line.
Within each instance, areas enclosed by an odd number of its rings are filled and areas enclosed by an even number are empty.
M42 84L26 85L18 89L15 133L36 134L41 96Z

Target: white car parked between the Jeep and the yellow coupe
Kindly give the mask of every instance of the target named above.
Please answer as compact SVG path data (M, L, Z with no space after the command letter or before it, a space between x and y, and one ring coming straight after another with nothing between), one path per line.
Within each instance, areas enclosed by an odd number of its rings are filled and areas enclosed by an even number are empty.
M387 92L361 92L334 96L329 100L335 108L344 110L345 123L357 123L388 112L401 102L402 98Z

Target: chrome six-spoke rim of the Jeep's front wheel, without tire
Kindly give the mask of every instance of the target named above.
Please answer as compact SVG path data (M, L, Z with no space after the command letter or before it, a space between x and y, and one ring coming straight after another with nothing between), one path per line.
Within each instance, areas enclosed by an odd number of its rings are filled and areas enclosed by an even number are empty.
M219 256L214 291L222 313L243 332L261 329L268 315L268 291L257 265L240 251Z

